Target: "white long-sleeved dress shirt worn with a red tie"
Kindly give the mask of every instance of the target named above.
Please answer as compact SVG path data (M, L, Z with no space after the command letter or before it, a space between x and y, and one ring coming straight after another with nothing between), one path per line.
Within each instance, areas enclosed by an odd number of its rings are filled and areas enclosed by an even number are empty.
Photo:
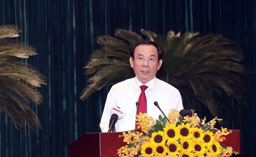
M137 80L137 77L134 77L114 84L111 87L107 95L100 122L102 132L107 132L109 129L111 108L113 107L119 107L122 112L125 112L125 115L116 122L116 132L135 129L137 111L135 103L139 99L141 85L143 84ZM156 77L144 85L148 86L145 90L147 97L147 115L152 116L154 120L158 119L159 115L162 115L161 111L154 105L154 101L158 102L166 116L168 116L171 109L179 111L183 109L180 92L172 85ZM164 117L164 115L162 115L162 117Z

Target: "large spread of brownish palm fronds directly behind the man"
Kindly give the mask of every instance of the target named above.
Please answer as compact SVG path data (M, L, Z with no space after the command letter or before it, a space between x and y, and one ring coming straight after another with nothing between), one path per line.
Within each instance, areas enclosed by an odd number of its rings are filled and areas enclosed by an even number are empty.
M240 104L247 104L239 75L248 75L248 72L241 64L242 52L231 46L232 40L213 33L181 35L170 30L165 39L152 31L142 29L141 33L163 50L163 64L157 77L179 89L185 108L203 104L215 116L220 105L236 121L235 111L223 99L230 96ZM134 77L129 64L129 47L143 37L121 29L116 30L115 36L98 38L101 47L92 52L85 67L91 77L82 91L82 100L105 86Z

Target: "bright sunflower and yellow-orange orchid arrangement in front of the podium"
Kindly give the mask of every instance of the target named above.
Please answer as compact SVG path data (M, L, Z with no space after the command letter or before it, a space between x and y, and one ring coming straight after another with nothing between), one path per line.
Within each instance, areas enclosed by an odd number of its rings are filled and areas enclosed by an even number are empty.
M119 148L119 157L230 157L232 147L223 145L224 135L232 133L227 128L214 129L217 117L206 123L199 120L197 114L191 117L180 116L178 110L171 110L166 118L159 120L148 117L146 113L136 115L136 124L140 131L123 132L123 142L127 145Z

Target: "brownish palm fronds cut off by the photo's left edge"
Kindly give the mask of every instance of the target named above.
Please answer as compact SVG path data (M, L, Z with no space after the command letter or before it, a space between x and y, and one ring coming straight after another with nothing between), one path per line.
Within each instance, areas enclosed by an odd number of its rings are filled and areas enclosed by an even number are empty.
M36 55L33 47L7 39L18 37L20 32L15 26L0 26L0 112L7 113L17 129L26 122L35 131L42 126L28 104L42 102L36 87L45 84L45 77L19 60Z

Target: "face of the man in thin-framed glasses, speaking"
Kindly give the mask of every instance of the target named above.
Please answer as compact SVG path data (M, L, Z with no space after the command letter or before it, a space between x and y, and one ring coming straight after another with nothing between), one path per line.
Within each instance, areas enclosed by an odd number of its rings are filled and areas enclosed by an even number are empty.
M130 66L133 68L138 80L145 84L152 80L162 65L162 60L158 59L158 52L153 45L139 45L134 50L134 56L136 59L130 57ZM145 60L140 61L140 58ZM153 62L149 62L147 59L155 59Z

